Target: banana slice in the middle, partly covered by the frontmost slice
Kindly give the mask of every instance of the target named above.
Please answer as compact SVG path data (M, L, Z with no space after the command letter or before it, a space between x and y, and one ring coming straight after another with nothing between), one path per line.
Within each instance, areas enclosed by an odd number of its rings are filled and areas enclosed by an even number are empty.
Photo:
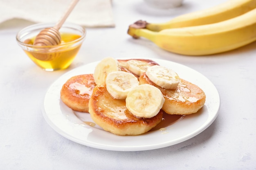
M130 89L138 85L138 78L129 72L110 72L106 77L106 88L115 99L126 99Z

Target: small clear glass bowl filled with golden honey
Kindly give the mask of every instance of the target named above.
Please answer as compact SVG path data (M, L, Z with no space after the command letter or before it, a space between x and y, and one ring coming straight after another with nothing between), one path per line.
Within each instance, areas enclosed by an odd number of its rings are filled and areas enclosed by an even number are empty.
M55 23L39 23L27 26L16 35L18 45L27 56L46 71L63 70L70 66L85 39L83 26L64 23L59 29L61 44L54 46L33 45L36 35L44 28L54 27Z

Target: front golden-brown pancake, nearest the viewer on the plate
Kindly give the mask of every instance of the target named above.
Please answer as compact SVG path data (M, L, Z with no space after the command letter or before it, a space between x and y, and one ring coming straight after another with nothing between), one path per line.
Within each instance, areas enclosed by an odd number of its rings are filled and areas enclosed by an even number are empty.
M139 135L146 133L162 121L163 111L153 118L138 118L126 108L125 100L112 98L106 85L94 87L89 100L92 120L105 131L116 135Z

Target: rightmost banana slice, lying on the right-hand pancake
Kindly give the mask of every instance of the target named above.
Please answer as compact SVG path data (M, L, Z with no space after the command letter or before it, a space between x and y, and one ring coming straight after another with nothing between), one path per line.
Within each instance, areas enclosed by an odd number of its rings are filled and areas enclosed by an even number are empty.
M180 77L176 72L160 65L148 68L146 75L153 83L164 89L176 89L180 83Z

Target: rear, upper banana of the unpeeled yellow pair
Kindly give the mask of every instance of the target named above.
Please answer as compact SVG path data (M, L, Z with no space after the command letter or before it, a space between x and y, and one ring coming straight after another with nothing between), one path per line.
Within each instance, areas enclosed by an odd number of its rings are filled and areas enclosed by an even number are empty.
M256 8L256 0L228 0L209 9L180 15L165 23L147 23L146 28L151 31L161 31L167 28L212 24L237 17L254 8Z

